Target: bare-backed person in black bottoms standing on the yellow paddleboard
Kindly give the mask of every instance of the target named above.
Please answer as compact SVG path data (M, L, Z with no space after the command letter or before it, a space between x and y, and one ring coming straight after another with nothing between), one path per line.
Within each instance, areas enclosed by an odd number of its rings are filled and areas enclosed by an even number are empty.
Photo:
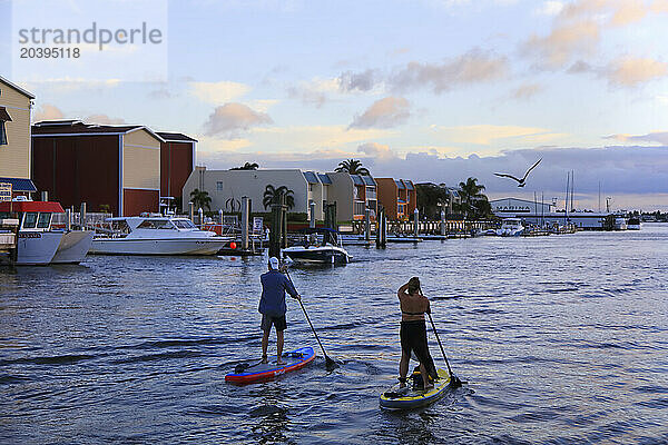
M399 363L399 382L402 387L405 386L411 352L413 352L420 360L420 373L422 374L424 388L429 389L434 386L429 377L438 377L434 360L429 353L426 344L424 314L431 314L429 299L422 295L420 278L418 277L411 278L409 283L400 287L396 296L401 306L401 362Z

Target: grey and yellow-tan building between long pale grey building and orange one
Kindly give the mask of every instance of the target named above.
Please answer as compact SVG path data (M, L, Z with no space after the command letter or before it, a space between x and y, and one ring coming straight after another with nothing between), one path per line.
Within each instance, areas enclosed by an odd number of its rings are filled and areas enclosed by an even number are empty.
M371 176L350 175L343 171L327 172L332 179L330 200L336 202L336 218L340 221L364 219L370 209L375 219L379 209L377 184Z

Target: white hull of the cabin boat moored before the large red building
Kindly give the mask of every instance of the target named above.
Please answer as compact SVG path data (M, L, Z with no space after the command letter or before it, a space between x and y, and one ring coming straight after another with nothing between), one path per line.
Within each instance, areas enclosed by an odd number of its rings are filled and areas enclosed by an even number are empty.
M228 239L95 238L94 255L216 255Z

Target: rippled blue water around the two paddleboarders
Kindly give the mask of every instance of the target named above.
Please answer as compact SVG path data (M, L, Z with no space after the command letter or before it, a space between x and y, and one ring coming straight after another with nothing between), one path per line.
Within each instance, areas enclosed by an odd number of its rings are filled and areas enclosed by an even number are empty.
M292 271L342 366L245 387L224 376L261 354L265 259L0 270L0 443L668 443L668 226L350 250ZM469 384L385 413L413 275ZM315 347L295 303L286 348Z

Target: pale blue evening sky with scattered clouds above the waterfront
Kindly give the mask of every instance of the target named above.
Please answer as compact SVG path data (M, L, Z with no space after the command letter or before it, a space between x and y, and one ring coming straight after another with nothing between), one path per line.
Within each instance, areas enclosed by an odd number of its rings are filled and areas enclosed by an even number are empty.
M355 158L376 177L475 177L490 198L561 206L572 171L578 208L597 210L600 189L615 209L668 210L668 0L116 2L0 0L0 76L36 95L33 119L184 132L209 169ZM17 22L37 12L101 26L129 4L164 53L14 60ZM522 189L493 175L538 159Z

